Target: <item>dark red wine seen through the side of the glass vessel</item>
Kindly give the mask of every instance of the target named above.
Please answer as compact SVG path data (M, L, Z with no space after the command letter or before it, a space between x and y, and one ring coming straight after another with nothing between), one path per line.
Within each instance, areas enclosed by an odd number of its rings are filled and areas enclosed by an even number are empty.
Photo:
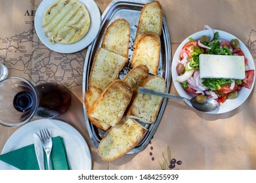
M39 108L36 116L54 118L70 108L70 91L61 84L47 82L35 86L39 95Z

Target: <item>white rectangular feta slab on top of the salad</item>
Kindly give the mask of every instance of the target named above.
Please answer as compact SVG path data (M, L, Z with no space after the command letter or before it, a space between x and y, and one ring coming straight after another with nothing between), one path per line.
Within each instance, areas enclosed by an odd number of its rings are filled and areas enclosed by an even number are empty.
M200 78L245 78L244 56L201 54Z

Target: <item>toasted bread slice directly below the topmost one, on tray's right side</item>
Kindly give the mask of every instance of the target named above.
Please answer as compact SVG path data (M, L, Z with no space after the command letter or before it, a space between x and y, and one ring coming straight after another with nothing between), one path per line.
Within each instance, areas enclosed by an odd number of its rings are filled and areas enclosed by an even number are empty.
M143 35L131 57L131 68L146 65L148 73L157 75L160 59L160 37L155 33Z

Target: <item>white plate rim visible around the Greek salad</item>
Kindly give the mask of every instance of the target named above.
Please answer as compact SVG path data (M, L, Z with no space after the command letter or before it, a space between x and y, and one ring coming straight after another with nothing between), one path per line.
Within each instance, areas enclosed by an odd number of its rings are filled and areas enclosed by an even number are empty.
M225 39L226 41L229 41L229 42L231 39L235 39L235 38L238 39L234 35L227 33L225 31L220 31L220 30L214 30L214 31L219 32L219 39ZM190 35L184 41L182 41L182 43L179 45L179 47L177 48L177 50L173 56L173 63L171 65L173 84L174 84L177 92L179 93L179 95L181 95L182 97L186 97L188 99L191 99L192 95L190 95L188 92L186 92L182 88L181 84L176 81L176 78L178 76L177 71L176 71L176 66L177 66L177 63L179 60L179 54L182 50L182 47L184 46L184 44L186 44L186 42L190 41L189 38L198 40L202 37L202 35L207 35L208 37L210 37L210 31L209 30L199 31L197 33ZM238 40L240 41L240 39L238 39ZM253 57L251 56L251 53L249 52L249 50L247 49L247 47L245 46L245 44L242 41L240 41L240 48L244 52L245 57L248 59L249 69L255 70ZM214 110L213 112L207 112L207 113L222 114L225 112L230 112L231 110L234 110L235 108L239 107L240 105L242 105L242 103L244 103L244 101L247 99L247 97L249 97L251 91L253 90L254 83L255 83L255 75L253 78L253 85L251 86L250 89L243 87L242 90L240 90L240 92L238 92L238 97L236 97L236 99L226 99L226 101L224 103L221 103L219 109Z

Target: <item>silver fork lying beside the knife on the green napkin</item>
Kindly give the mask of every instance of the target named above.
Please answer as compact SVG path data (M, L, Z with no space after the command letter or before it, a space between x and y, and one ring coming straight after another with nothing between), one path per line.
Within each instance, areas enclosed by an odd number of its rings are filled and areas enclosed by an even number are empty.
M40 129L40 136L41 136L43 148L45 149L45 153L47 156L48 169L51 170L52 166L51 166L50 154L53 147L53 141L47 128Z

